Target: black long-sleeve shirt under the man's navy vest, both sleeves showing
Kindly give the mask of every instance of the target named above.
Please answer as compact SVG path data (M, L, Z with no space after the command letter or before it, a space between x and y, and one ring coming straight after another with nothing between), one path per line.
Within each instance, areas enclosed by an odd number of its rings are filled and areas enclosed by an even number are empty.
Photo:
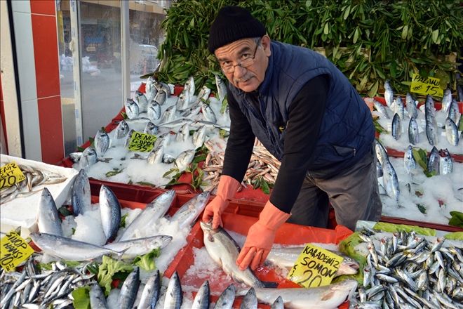
M307 81L289 106L281 167L270 196L270 202L286 213L293 208L307 173L325 112L328 84L326 75L314 77ZM227 100L231 124L222 175L241 181L253 152L255 135L229 91Z

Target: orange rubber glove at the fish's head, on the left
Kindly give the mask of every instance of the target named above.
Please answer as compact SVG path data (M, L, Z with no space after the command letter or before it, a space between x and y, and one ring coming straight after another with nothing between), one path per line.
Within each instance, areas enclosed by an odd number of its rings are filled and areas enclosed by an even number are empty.
M222 224L222 213L227 208L230 199L235 196L239 186L238 180L233 177L222 175L220 176L219 187L217 188L217 195L209 204L206 205L203 213L203 221L213 221L213 228L218 228Z

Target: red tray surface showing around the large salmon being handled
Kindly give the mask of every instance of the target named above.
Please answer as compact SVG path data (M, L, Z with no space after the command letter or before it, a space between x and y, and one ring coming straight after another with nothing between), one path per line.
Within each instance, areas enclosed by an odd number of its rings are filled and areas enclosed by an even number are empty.
M253 223L257 221L257 218L250 216L241 216L233 213L224 213L222 215L222 221L226 230L237 232L241 235L246 235L248 229ZM335 230L326 230L322 228L313 228L302 225L295 225L292 223L284 223L281 228L276 232L275 243L276 244L304 244L307 242L318 242L318 243L333 243L337 244L342 239L345 239L351 235L352 231L345 228L342 225L338 225ZM188 268L194 263L194 248L202 248L203 243L203 231L199 222L197 222L189 236L187 237L187 246L179 251L175 256L170 266L164 272L166 277L171 277L173 272L177 271L180 276L180 282L182 277ZM279 275L276 275L274 270L269 268L257 268L255 272L257 277L262 281L279 282L279 287L299 287L297 284L290 282ZM197 278L195 281L195 287L199 289L201 284L207 278ZM191 284L191 282L190 282ZM210 287L214 289L213 285ZM194 293L195 295L195 293ZM217 301L217 296L211 296L211 301ZM236 297L234 302L234 308L239 308L242 297ZM270 308L269 305L259 303L258 308ZM340 308L348 308L348 303L343 303Z

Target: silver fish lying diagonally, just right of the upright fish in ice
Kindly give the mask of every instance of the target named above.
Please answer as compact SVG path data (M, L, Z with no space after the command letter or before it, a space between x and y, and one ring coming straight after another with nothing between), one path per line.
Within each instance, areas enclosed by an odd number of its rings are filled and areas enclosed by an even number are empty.
M156 223L168 211L175 197L175 190L168 190L152 200L145 209L128 225L116 241L133 239L139 230L144 230L146 226Z

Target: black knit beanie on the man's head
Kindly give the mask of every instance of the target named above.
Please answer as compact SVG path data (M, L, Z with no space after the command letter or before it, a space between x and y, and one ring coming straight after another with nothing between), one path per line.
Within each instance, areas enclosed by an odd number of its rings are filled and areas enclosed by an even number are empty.
M253 18L246 8L224 6L210 26L208 49L210 53L214 53L217 48L233 41L249 37L263 37L265 33L262 22Z

